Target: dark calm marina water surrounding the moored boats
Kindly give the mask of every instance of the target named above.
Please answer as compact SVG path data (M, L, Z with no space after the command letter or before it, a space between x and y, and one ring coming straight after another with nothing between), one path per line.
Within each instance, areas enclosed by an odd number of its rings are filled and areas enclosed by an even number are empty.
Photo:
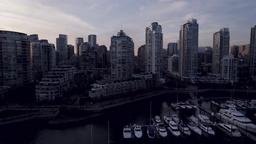
M189 98L188 95L179 95L179 100ZM43 121L29 121L19 124L12 124L0 127L0 143L3 144L91 144L91 127L92 127L92 144L105 144L108 141L108 121L110 124L110 140L114 144L169 144L169 143L190 143L190 144L252 144L253 141L247 137L231 139L222 131L216 131L214 137L204 137L194 134L190 137L174 137L168 130L166 138L149 139L146 128L143 128L143 136L138 139L124 139L123 127L125 124L147 125L150 123L150 101L152 101L152 117L159 115L177 114L171 108L171 103L176 102L176 95L163 95L147 100L137 101L113 108L105 113L100 121L94 121L92 124L79 124L79 126L65 126L63 128L51 128ZM216 107L210 105L209 101L203 101L202 106L212 111L218 111ZM201 111L203 114L203 111ZM246 114L246 111L243 111ZM179 111L179 115L194 114L195 112ZM209 116L205 113L205 115ZM253 120L252 118L250 118Z

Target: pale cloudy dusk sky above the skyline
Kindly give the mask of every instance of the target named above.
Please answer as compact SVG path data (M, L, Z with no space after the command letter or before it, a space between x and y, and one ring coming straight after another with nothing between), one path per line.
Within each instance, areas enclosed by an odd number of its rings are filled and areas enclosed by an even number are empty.
M59 34L97 43L109 49L111 36L121 29L138 47L145 44L145 28L162 26L164 49L179 39L181 25L193 17L199 23L199 46L213 46L213 33L230 29L230 46L249 44L256 25L256 0L0 0L0 30L38 34L56 44Z

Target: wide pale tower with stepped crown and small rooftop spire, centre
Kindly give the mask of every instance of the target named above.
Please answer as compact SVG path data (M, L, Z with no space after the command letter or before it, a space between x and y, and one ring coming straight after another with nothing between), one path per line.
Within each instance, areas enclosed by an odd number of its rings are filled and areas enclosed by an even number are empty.
M112 79L131 79L134 73L134 43L123 30L111 37L110 57Z

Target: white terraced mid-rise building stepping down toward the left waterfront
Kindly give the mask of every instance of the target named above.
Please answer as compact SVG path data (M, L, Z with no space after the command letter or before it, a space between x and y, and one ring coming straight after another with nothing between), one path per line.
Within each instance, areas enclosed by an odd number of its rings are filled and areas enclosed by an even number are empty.
M56 66L36 85L36 101L53 101L62 97L64 92L74 87L76 72L77 69L71 65Z

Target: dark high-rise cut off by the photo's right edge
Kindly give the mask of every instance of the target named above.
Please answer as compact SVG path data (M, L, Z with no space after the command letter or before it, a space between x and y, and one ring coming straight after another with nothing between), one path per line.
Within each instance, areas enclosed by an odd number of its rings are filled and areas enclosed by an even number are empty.
M250 75L256 80L256 25L251 28L250 37Z

